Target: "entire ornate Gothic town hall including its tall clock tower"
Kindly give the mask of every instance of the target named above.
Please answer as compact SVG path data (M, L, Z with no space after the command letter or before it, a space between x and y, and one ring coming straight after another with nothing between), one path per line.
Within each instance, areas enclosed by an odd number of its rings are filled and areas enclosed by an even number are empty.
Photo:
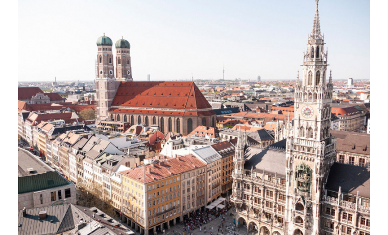
M332 76L318 1L296 81L294 120L277 128L267 147L247 146L239 134L231 201L237 226L259 234L370 234L370 170L335 162L330 134ZM346 178L346 180L344 180Z

